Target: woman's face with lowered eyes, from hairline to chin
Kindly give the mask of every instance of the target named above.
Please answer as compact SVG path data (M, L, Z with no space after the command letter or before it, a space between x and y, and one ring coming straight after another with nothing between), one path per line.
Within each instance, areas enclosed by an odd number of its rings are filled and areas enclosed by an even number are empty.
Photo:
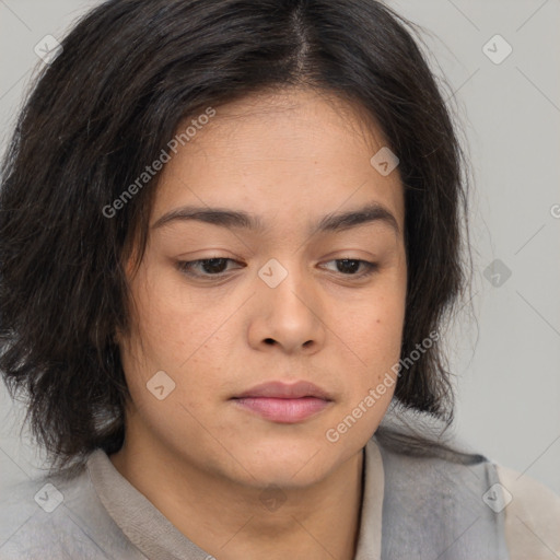
M127 443L166 465L311 485L360 452L389 405L390 383L372 390L399 360L402 186L370 162L381 132L332 101L245 97L170 152L120 343ZM236 398L300 381L328 399Z

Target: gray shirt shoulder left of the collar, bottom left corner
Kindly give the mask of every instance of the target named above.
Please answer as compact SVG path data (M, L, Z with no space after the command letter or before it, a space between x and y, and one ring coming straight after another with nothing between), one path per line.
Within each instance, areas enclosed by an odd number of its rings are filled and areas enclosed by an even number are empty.
M127 556L128 547L86 468L25 480L0 497L2 560L144 558Z

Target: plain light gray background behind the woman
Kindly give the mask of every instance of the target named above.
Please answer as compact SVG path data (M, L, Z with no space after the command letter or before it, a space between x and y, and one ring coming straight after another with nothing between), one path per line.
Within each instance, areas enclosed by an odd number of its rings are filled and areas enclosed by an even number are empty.
M0 0L0 148L43 65L35 45L97 3ZM455 430L560 494L560 0L388 3L430 32L474 167L477 319L450 334ZM513 49L500 63L487 56L505 52L497 34ZM43 462L28 434L20 439L22 419L0 384L0 493Z

